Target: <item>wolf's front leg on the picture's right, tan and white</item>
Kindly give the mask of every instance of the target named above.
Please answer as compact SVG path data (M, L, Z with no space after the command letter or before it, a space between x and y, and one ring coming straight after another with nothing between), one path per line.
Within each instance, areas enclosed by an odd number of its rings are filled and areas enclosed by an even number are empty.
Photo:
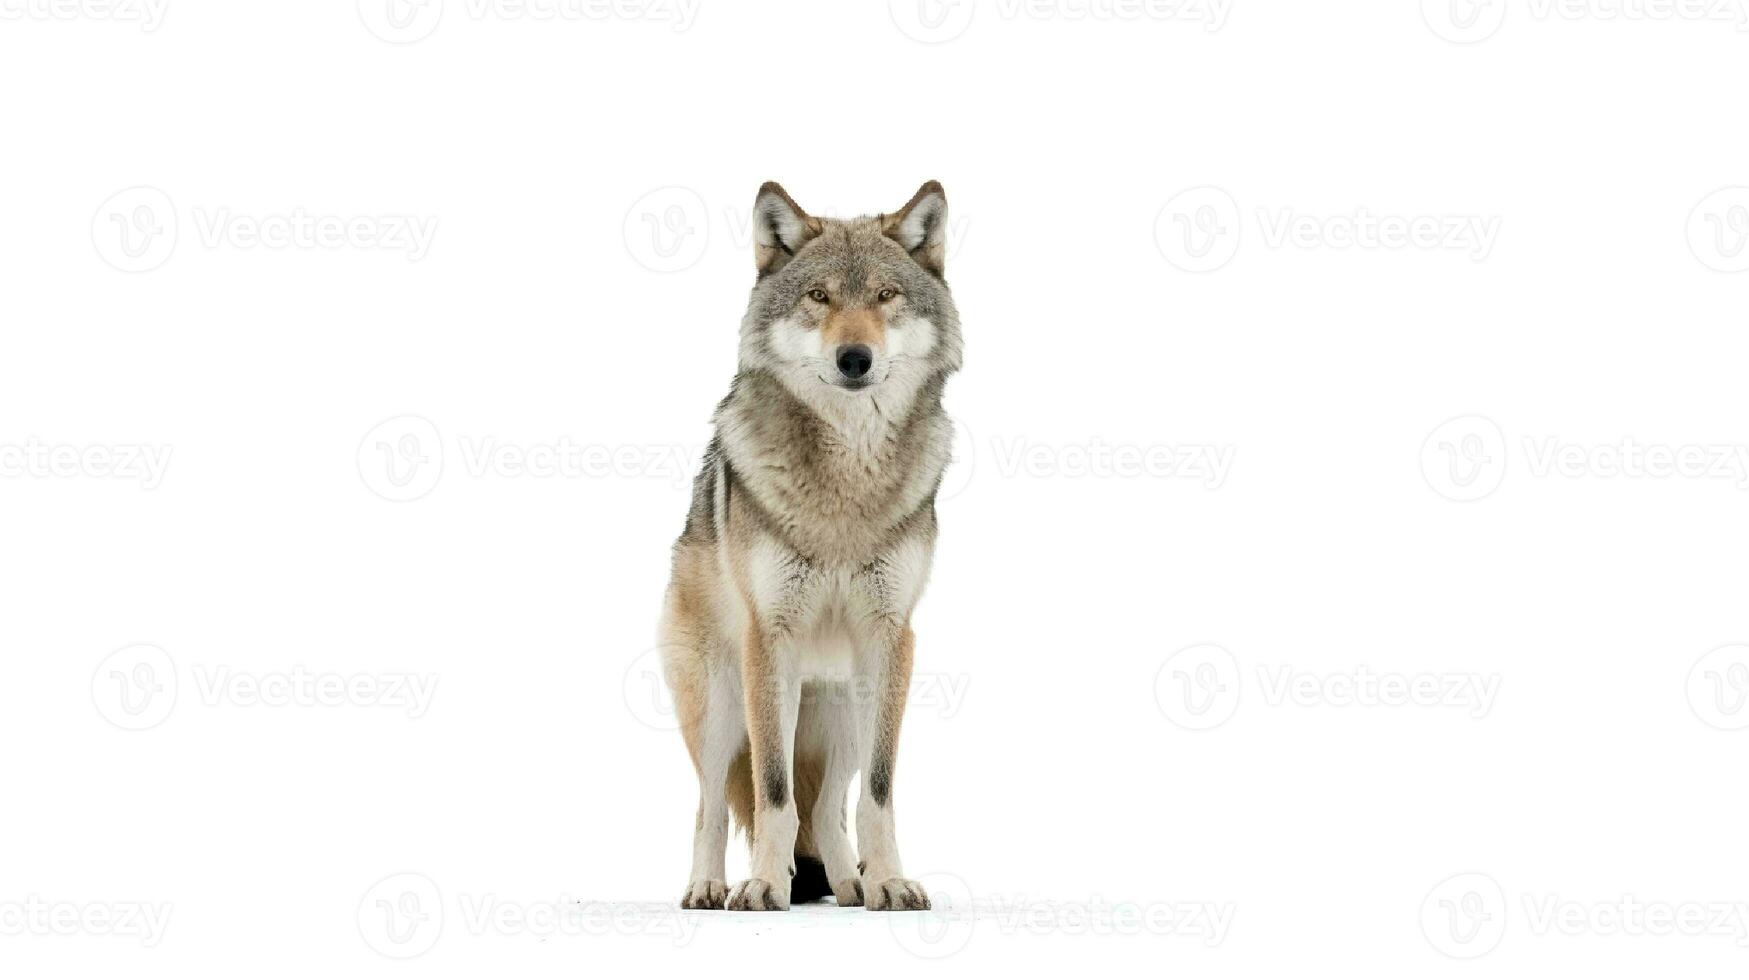
M923 886L904 877L892 816L892 775L899 754L899 723L911 693L911 651L916 635L901 626L864 654L862 686L871 696L857 698L862 798L857 802L857 854L862 858L862 901L869 912L929 908Z

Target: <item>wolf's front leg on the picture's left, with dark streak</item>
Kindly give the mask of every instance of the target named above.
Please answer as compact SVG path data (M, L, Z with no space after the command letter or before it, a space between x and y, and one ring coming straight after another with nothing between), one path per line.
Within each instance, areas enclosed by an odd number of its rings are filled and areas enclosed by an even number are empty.
M754 777L752 873L729 892L736 912L784 912L796 875L796 714L801 681L796 653L780 628L749 626L742 651L747 742Z

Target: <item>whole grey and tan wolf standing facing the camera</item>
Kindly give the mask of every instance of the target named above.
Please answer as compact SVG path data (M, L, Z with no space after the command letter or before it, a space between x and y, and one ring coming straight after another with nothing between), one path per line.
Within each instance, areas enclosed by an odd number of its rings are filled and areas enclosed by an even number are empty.
M754 200L757 278L738 369L673 546L659 642L698 772L682 908L822 900L929 908L904 875L894 763L911 686L911 611L960 368L944 278L948 200L813 217L777 184ZM857 840L847 791L862 775ZM729 814L750 877L724 882Z

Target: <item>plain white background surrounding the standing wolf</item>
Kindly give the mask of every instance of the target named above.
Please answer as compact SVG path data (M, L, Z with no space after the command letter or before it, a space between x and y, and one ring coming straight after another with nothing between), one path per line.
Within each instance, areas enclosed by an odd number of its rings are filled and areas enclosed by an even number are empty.
M429 4L0 0L0 971L1742 975L1735 4ZM649 649L768 178L948 191L950 920L672 912Z

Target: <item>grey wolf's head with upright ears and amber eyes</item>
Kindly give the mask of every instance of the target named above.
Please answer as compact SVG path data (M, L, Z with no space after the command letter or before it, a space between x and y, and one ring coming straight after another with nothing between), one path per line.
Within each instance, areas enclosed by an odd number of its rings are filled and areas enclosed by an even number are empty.
M777 184L754 200L759 280L742 320L742 369L775 374L838 413L885 411L960 366L944 275L948 198L923 184L894 214L813 217Z

